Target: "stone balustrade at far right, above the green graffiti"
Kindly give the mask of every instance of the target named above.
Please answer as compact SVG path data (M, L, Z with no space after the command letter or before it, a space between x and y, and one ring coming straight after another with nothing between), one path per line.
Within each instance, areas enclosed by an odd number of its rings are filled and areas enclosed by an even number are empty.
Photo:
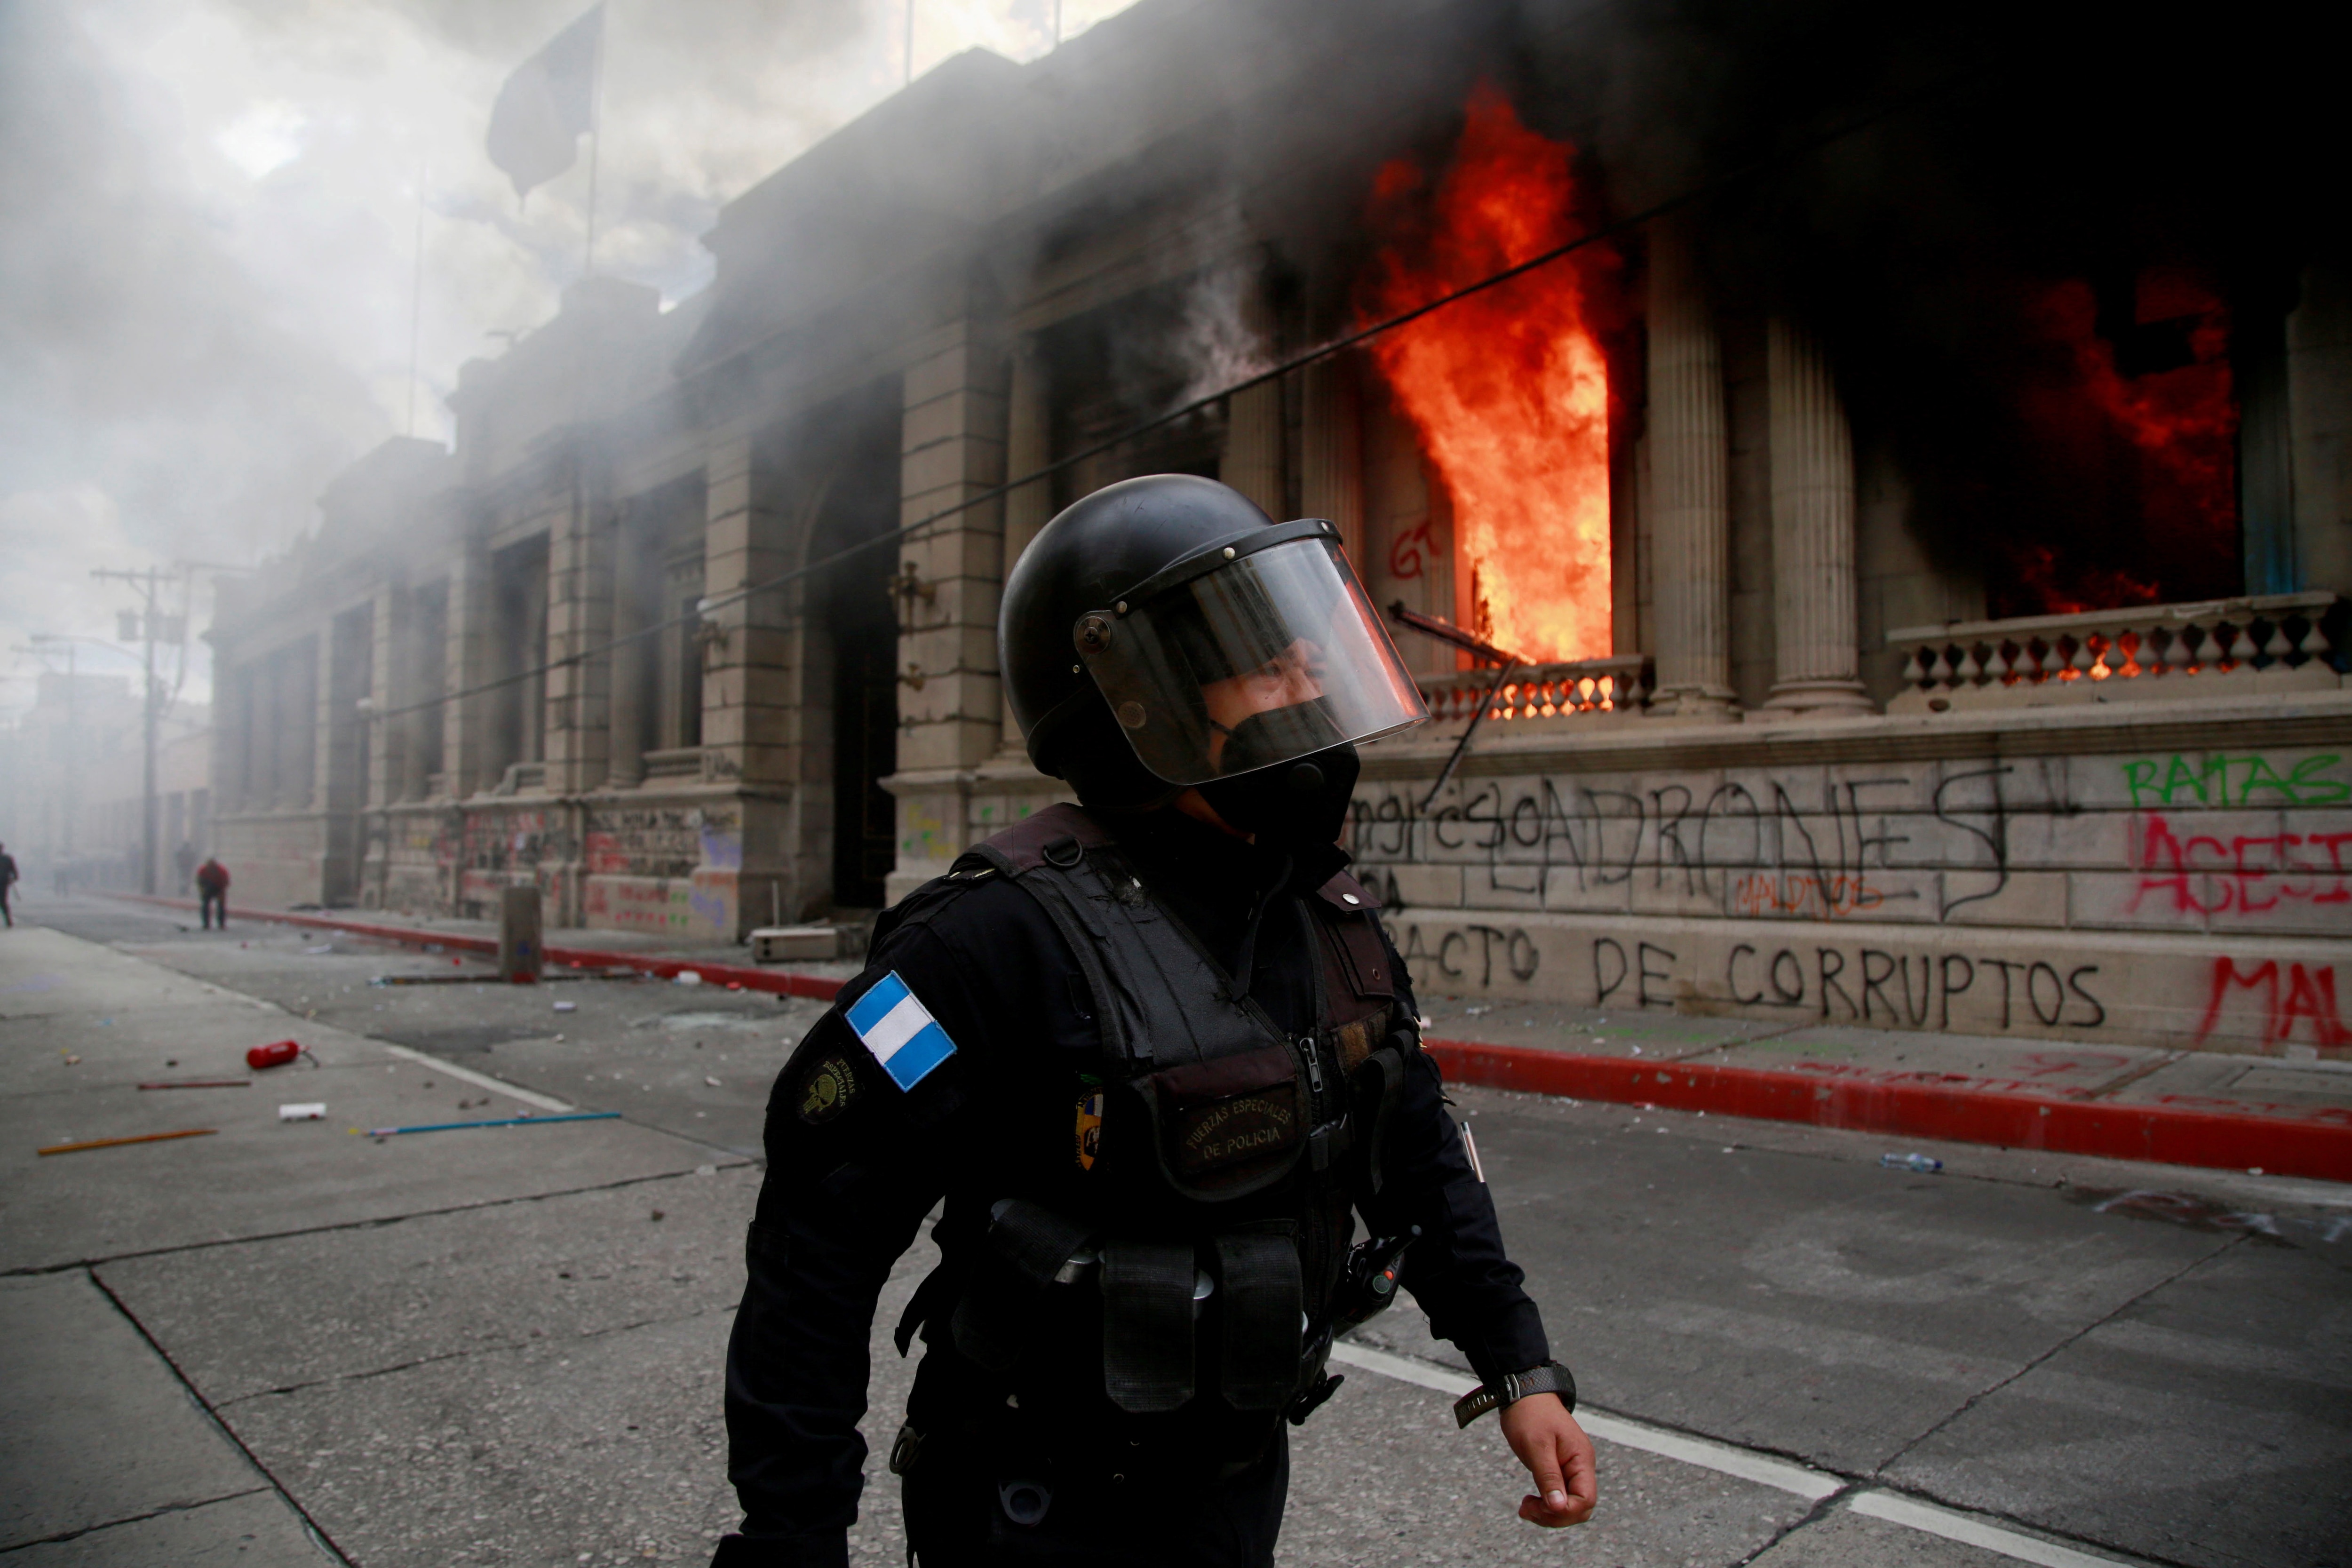
M1886 632L1905 658L1886 710L2333 691L2345 684L2331 639L2340 604L2333 592L2281 592L1903 628Z

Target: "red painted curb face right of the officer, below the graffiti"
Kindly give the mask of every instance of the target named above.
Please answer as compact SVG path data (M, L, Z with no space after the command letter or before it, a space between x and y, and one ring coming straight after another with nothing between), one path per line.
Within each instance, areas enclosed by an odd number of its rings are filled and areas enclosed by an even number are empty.
M1830 1079L1757 1067L1661 1065L1461 1039L1423 1041L1446 1077L1484 1088L1809 1121L1858 1133L1990 1143L2051 1154L2352 1180L2352 1126L2173 1105L1985 1093L1943 1084Z

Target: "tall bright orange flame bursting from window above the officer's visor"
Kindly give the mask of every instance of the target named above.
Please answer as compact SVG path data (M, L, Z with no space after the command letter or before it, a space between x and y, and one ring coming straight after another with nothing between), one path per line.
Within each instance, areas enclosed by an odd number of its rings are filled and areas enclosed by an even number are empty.
M1571 240L1576 148L1470 96L1454 165L1414 242L1388 247L1369 315L1425 306ZM1381 169L1378 209L1421 183ZM1374 360L1454 498L1475 630L1524 658L1599 658L1609 632L1609 362L1592 294L1599 249L1536 268L1374 339Z

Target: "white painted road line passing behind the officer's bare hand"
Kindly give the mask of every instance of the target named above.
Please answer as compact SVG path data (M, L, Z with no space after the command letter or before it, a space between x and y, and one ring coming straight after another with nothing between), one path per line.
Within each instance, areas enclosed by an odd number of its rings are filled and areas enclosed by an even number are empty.
M1458 1373L1451 1366L1430 1366L1428 1361L1414 1361L1411 1356L1397 1356L1385 1349L1350 1345L1345 1340L1331 1347L1331 1359L1367 1373L1395 1378L1397 1382L1435 1389L1446 1399L1461 1399L1477 1387L1468 1373ZM1665 1427L1651 1427L1649 1422L1628 1420L1623 1415L1578 1410L1576 1425L1606 1443L1639 1448L1668 1460L1738 1476L1740 1481L1755 1481L1757 1486L1795 1493L1806 1502L1820 1502L1823 1497L1846 1493L1844 1507L1856 1514L1870 1514L1872 1519L1884 1519L1907 1530L1940 1535L1969 1547L1983 1547L1985 1552L1997 1552L1999 1556L2009 1556L2020 1563L2039 1563L2042 1568L2117 1568L2119 1563L2129 1566L2140 1561L2131 1556L2096 1556L2077 1547L2060 1547L2056 1542L2025 1535L2023 1530L2006 1530L1997 1523L1978 1519L1976 1514L1962 1514L1957 1509L1919 1502L1917 1497L1905 1497L1891 1490L1856 1490L1849 1481L1832 1476L1825 1469L1811 1469L1809 1465L1795 1465L1766 1453L1752 1453L1733 1443L1689 1436L1686 1432L1668 1432Z

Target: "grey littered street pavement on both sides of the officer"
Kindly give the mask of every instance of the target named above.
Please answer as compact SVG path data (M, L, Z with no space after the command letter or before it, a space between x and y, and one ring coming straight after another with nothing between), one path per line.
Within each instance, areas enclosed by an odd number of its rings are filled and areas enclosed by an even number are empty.
M760 1114L818 1004L33 922L0 933L0 1559L708 1554ZM247 1072L280 1037L310 1056ZM167 1079L252 1086L136 1088ZM1294 1434L1284 1563L2352 1563L2352 1190L1959 1145L1917 1175L1851 1133L1456 1098L1602 1509L1519 1523L1494 1422L1446 1413L1461 1359L1399 1307ZM327 1119L278 1121L296 1100ZM621 1114L350 1131L564 1107ZM875 1347L887 1443L910 1368ZM887 1476L854 1552L903 1561Z

